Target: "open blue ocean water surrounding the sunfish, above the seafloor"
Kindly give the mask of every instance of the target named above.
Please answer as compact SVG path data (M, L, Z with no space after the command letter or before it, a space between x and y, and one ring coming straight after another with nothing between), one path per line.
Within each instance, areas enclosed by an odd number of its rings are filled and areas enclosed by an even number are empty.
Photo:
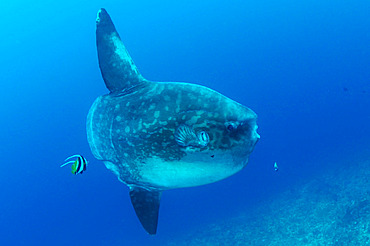
M165 245L369 159L369 1L14 0L0 7L2 245ZM156 236L141 228L128 188L86 140L87 112L108 93L95 46L101 7L144 77L202 84L259 117L261 139L248 166L218 183L166 191ZM90 161L83 175L59 168L76 153Z

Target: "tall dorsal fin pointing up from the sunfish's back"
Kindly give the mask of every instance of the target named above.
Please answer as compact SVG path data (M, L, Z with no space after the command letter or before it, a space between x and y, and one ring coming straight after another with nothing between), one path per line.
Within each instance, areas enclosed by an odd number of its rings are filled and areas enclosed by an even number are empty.
M96 46L100 71L110 92L144 83L105 9L100 9L96 18Z

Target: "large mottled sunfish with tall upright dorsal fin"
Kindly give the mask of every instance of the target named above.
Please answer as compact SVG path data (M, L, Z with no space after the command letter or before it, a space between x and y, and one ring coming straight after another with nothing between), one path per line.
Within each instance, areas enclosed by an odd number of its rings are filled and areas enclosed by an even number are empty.
M90 108L88 142L95 158L129 187L144 229L156 234L162 191L216 182L247 165L260 138L257 115L201 85L145 79L105 9L96 25L110 93Z

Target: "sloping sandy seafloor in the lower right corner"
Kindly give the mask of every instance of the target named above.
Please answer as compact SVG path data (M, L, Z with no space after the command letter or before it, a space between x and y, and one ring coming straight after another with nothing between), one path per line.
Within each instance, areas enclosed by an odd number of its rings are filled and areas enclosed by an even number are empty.
M168 245L370 245L369 154Z

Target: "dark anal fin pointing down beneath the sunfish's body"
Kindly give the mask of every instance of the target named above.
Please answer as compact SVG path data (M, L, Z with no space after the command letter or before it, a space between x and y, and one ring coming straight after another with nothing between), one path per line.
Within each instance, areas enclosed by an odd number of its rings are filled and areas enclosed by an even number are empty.
M156 234L161 191L130 187L131 203L141 225L151 235Z

